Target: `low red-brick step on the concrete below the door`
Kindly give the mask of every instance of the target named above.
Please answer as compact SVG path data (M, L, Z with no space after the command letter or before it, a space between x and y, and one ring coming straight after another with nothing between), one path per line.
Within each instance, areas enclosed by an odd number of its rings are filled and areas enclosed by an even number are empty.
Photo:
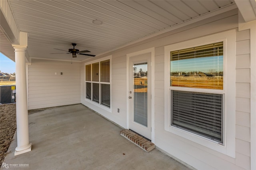
M145 150L146 152L150 152L151 150L155 149L155 144L148 141L148 139L145 139L144 137L128 130L124 129L120 131L120 135L140 147L141 149Z

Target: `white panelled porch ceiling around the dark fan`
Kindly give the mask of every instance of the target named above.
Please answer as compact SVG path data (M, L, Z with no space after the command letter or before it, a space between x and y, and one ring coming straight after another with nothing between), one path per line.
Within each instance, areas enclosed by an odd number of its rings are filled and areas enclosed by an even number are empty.
M8 0L29 57L70 60L71 43L93 55L234 4L233 0ZM102 25L92 23L102 21ZM2 36L2 33L0 34ZM1 38L2 40L2 38ZM2 46L2 44L1 44ZM55 49L54 49L55 48ZM64 52L65 53L65 52ZM10 54L11 55L11 54ZM77 55L77 61L86 56Z

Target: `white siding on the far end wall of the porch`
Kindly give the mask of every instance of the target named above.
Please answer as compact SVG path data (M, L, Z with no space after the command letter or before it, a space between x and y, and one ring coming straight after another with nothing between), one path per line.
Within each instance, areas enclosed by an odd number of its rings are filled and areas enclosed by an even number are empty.
M81 103L80 86L80 63L32 59L28 65L28 109Z

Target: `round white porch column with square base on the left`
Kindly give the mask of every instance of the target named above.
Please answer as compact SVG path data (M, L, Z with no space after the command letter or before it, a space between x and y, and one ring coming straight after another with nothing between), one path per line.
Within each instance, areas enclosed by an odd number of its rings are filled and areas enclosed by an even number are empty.
M31 151L28 136L28 102L26 86L26 46L13 45L16 63L17 147L14 155Z

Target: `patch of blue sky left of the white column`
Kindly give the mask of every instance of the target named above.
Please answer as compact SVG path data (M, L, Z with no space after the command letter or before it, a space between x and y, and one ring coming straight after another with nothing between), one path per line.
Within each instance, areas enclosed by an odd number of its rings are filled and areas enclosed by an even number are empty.
M2 53L0 53L0 70L6 73L14 73L16 71L15 62Z

